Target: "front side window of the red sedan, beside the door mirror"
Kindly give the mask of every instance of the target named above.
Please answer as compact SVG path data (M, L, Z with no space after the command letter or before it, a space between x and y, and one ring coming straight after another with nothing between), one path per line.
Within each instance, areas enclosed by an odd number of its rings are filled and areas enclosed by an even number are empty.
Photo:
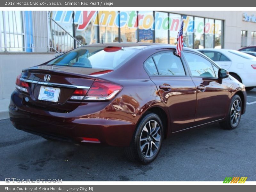
M192 76L216 77L210 61L194 53L184 52L184 55Z

